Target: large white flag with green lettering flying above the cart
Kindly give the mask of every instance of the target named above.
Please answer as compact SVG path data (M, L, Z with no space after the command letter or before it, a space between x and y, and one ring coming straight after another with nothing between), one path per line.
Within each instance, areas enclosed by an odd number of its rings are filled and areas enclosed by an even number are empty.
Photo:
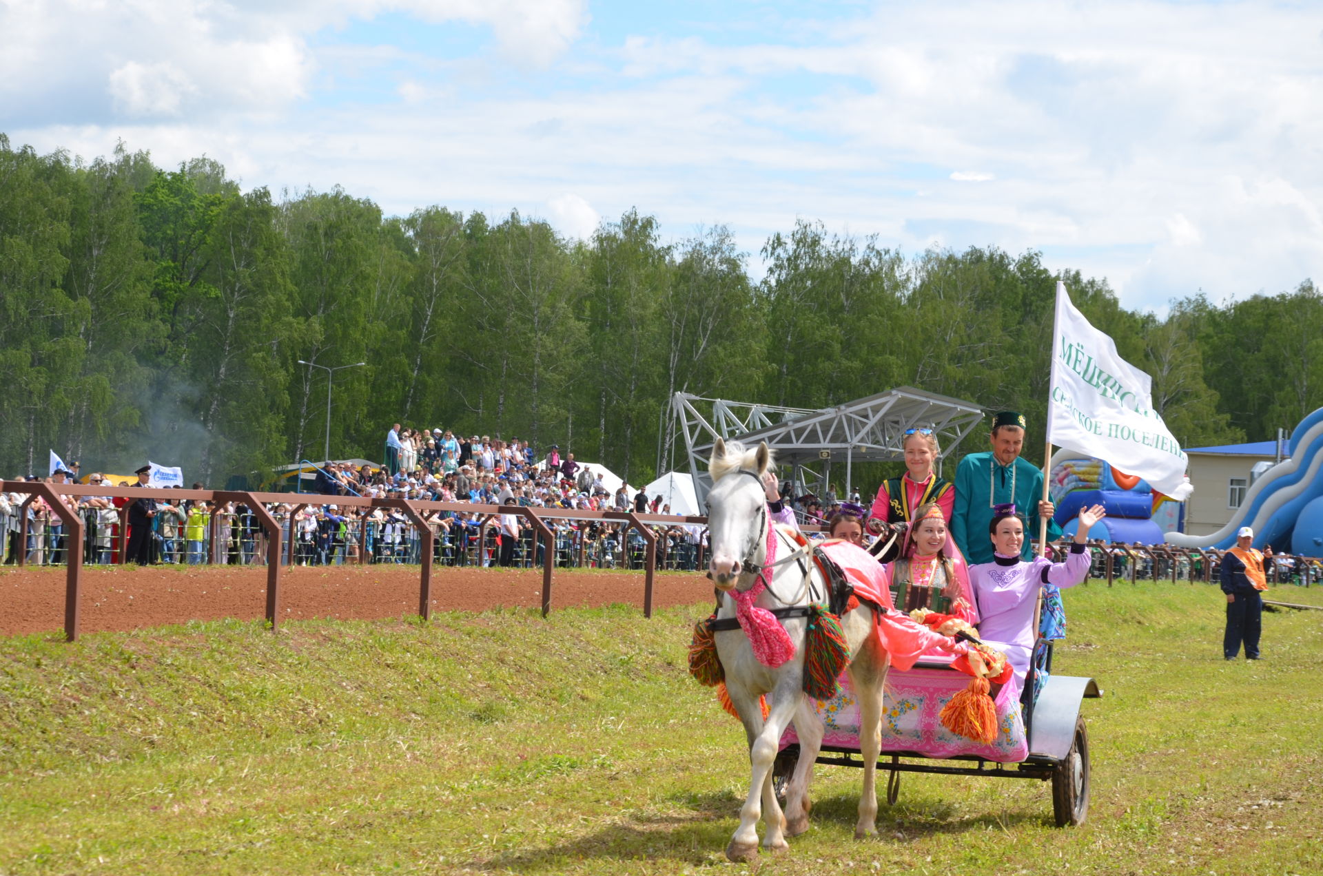
M1193 491L1185 454L1152 409L1152 378L1117 355L1057 283L1048 442L1106 460L1184 500Z

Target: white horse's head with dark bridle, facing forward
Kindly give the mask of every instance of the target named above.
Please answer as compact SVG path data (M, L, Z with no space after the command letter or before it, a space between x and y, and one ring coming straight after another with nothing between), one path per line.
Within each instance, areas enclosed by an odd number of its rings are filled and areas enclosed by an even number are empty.
M712 447L708 472L708 535L712 560L708 572L718 590L736 586L746 562L754 558L767 532L766 492L762 476L771 464L771 451L762 442L757 450L720 438ZM761 556L757 558L762 562Z

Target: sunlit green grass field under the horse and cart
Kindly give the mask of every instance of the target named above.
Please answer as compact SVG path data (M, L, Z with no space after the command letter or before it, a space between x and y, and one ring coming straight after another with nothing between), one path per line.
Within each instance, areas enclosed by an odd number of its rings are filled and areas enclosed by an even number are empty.
M814 827L747 867L742 732L685 671L706 606L0 639L0 873L1320 873L1323 611L1228 663L1222 605L1066 594L1057 671L1106 692L1084 827L1043 783L906 775L859 843L857 770L819 767Z

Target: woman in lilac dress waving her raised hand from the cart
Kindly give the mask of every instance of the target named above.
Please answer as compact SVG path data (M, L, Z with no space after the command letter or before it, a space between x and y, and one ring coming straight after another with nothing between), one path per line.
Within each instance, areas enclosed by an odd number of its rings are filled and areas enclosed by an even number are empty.
M1089 577L1089 550L1085 541L1095 523L1106 516L1102 505L1080 512L1074 544L1065 562L1052 562L1046 557L1021 560L1024 547L1024 519L1015 513L1015 505L994 515L988 524L995 558L970 566L970 585L979 611L979 638L999 651L1004 651L1015 670L1015 695L1024 687L1025 672L1037 631L1033 613L1039 590L1045 584L1073 588Z

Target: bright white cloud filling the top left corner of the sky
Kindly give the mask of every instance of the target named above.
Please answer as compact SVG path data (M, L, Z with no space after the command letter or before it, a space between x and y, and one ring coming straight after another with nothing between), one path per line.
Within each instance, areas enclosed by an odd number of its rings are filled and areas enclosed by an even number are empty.
M583 0L0 1L3 118L267 118L308 95L312 34L388 12L490 26L523 67L552 62L587 21Z

